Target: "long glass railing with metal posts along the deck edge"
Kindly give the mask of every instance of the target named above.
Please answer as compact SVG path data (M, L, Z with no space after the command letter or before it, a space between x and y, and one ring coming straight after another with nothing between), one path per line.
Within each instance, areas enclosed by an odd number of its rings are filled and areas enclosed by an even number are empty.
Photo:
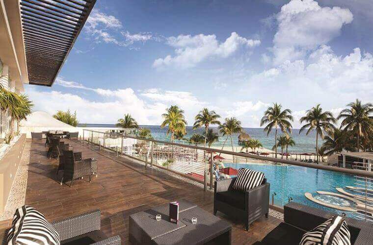
M240 168L247 168L265 173L272 207L282 208L295 201L373 221L373 172L368 163L345 161L346 168L342 168L304 162L309 156L272 158L267 153L247 154L90 130L84 130L83 135L85 144L119 151L119 155L138 159L146 166L202 183L206 189L212 189L215 180L233 178Z

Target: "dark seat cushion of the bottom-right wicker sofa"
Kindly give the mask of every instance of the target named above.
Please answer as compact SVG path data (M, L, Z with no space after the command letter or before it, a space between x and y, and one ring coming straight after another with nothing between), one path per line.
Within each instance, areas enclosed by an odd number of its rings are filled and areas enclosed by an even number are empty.
M276 228L269 232L262 240L261 244L266 245L299 245L305 230L296 228L288 223L280 223Z

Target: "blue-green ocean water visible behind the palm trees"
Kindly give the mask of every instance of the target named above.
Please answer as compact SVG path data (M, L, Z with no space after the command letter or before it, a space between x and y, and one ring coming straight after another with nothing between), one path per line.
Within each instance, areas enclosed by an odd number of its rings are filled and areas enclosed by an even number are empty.
M116 127L115 124L78 124L80 127ZM161 141L169 141L170 135L167 136L167 128L161 128L160 126L152 126L152 125L140 125L140 127L149 128L152 132L153 138ZM213 128L213 130L216 130L218 132L217 127L210 127ZM274 130L270 132L270 134L267 136L266 132L264 132L263 128L251 128L251 127L245 127L242 128L246 133L250 135L251 138L258 139L262 144L263 147L267 149L272 149L274 145ZM294 147L289 147L289 152L296 152L296 153L302 153L302 152L315 152L316 147L316 133L315 131L312 131L309 135L306 135L306 131L299 134L299 129L293 129L292 137L295 141ZM204 128L198 128L193 129L191 126L187 126L187 135L186 138L189 138L194 133L199 134L205 134ZM239 134L233 134L233 146L238 147L238 135ZM279 131L277 133L278 136L282 135L282 132ZM225 141L226 137L220 136L219 141L214 143L213 146L223 146L223 143ZM180 141L181 142L181 141ZM319 147L322 144L322 139L319 137ZM226 146L231 146L230 139L228 139Z

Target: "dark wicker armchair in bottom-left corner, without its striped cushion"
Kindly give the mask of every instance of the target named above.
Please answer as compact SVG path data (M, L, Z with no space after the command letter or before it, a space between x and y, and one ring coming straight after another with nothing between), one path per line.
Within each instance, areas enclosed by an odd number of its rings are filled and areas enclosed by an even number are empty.
M90 211L81 215L53 221L52 225L58 232L61 244L83 244L84 242L93 245L120 245L120 237L107 238L101 231L100 210ZM6 237L9 229L5 230L2 245L6 245Z

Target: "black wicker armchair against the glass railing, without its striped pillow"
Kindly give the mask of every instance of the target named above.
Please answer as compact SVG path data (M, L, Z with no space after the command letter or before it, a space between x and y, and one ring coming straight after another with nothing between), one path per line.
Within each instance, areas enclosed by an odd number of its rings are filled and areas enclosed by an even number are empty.
M246 192L233 190L236 177L215 181L213 195L213 214L220 211L237 220L245 222L246 230L252 222L262 216L268 218L269 183L263 183Z

